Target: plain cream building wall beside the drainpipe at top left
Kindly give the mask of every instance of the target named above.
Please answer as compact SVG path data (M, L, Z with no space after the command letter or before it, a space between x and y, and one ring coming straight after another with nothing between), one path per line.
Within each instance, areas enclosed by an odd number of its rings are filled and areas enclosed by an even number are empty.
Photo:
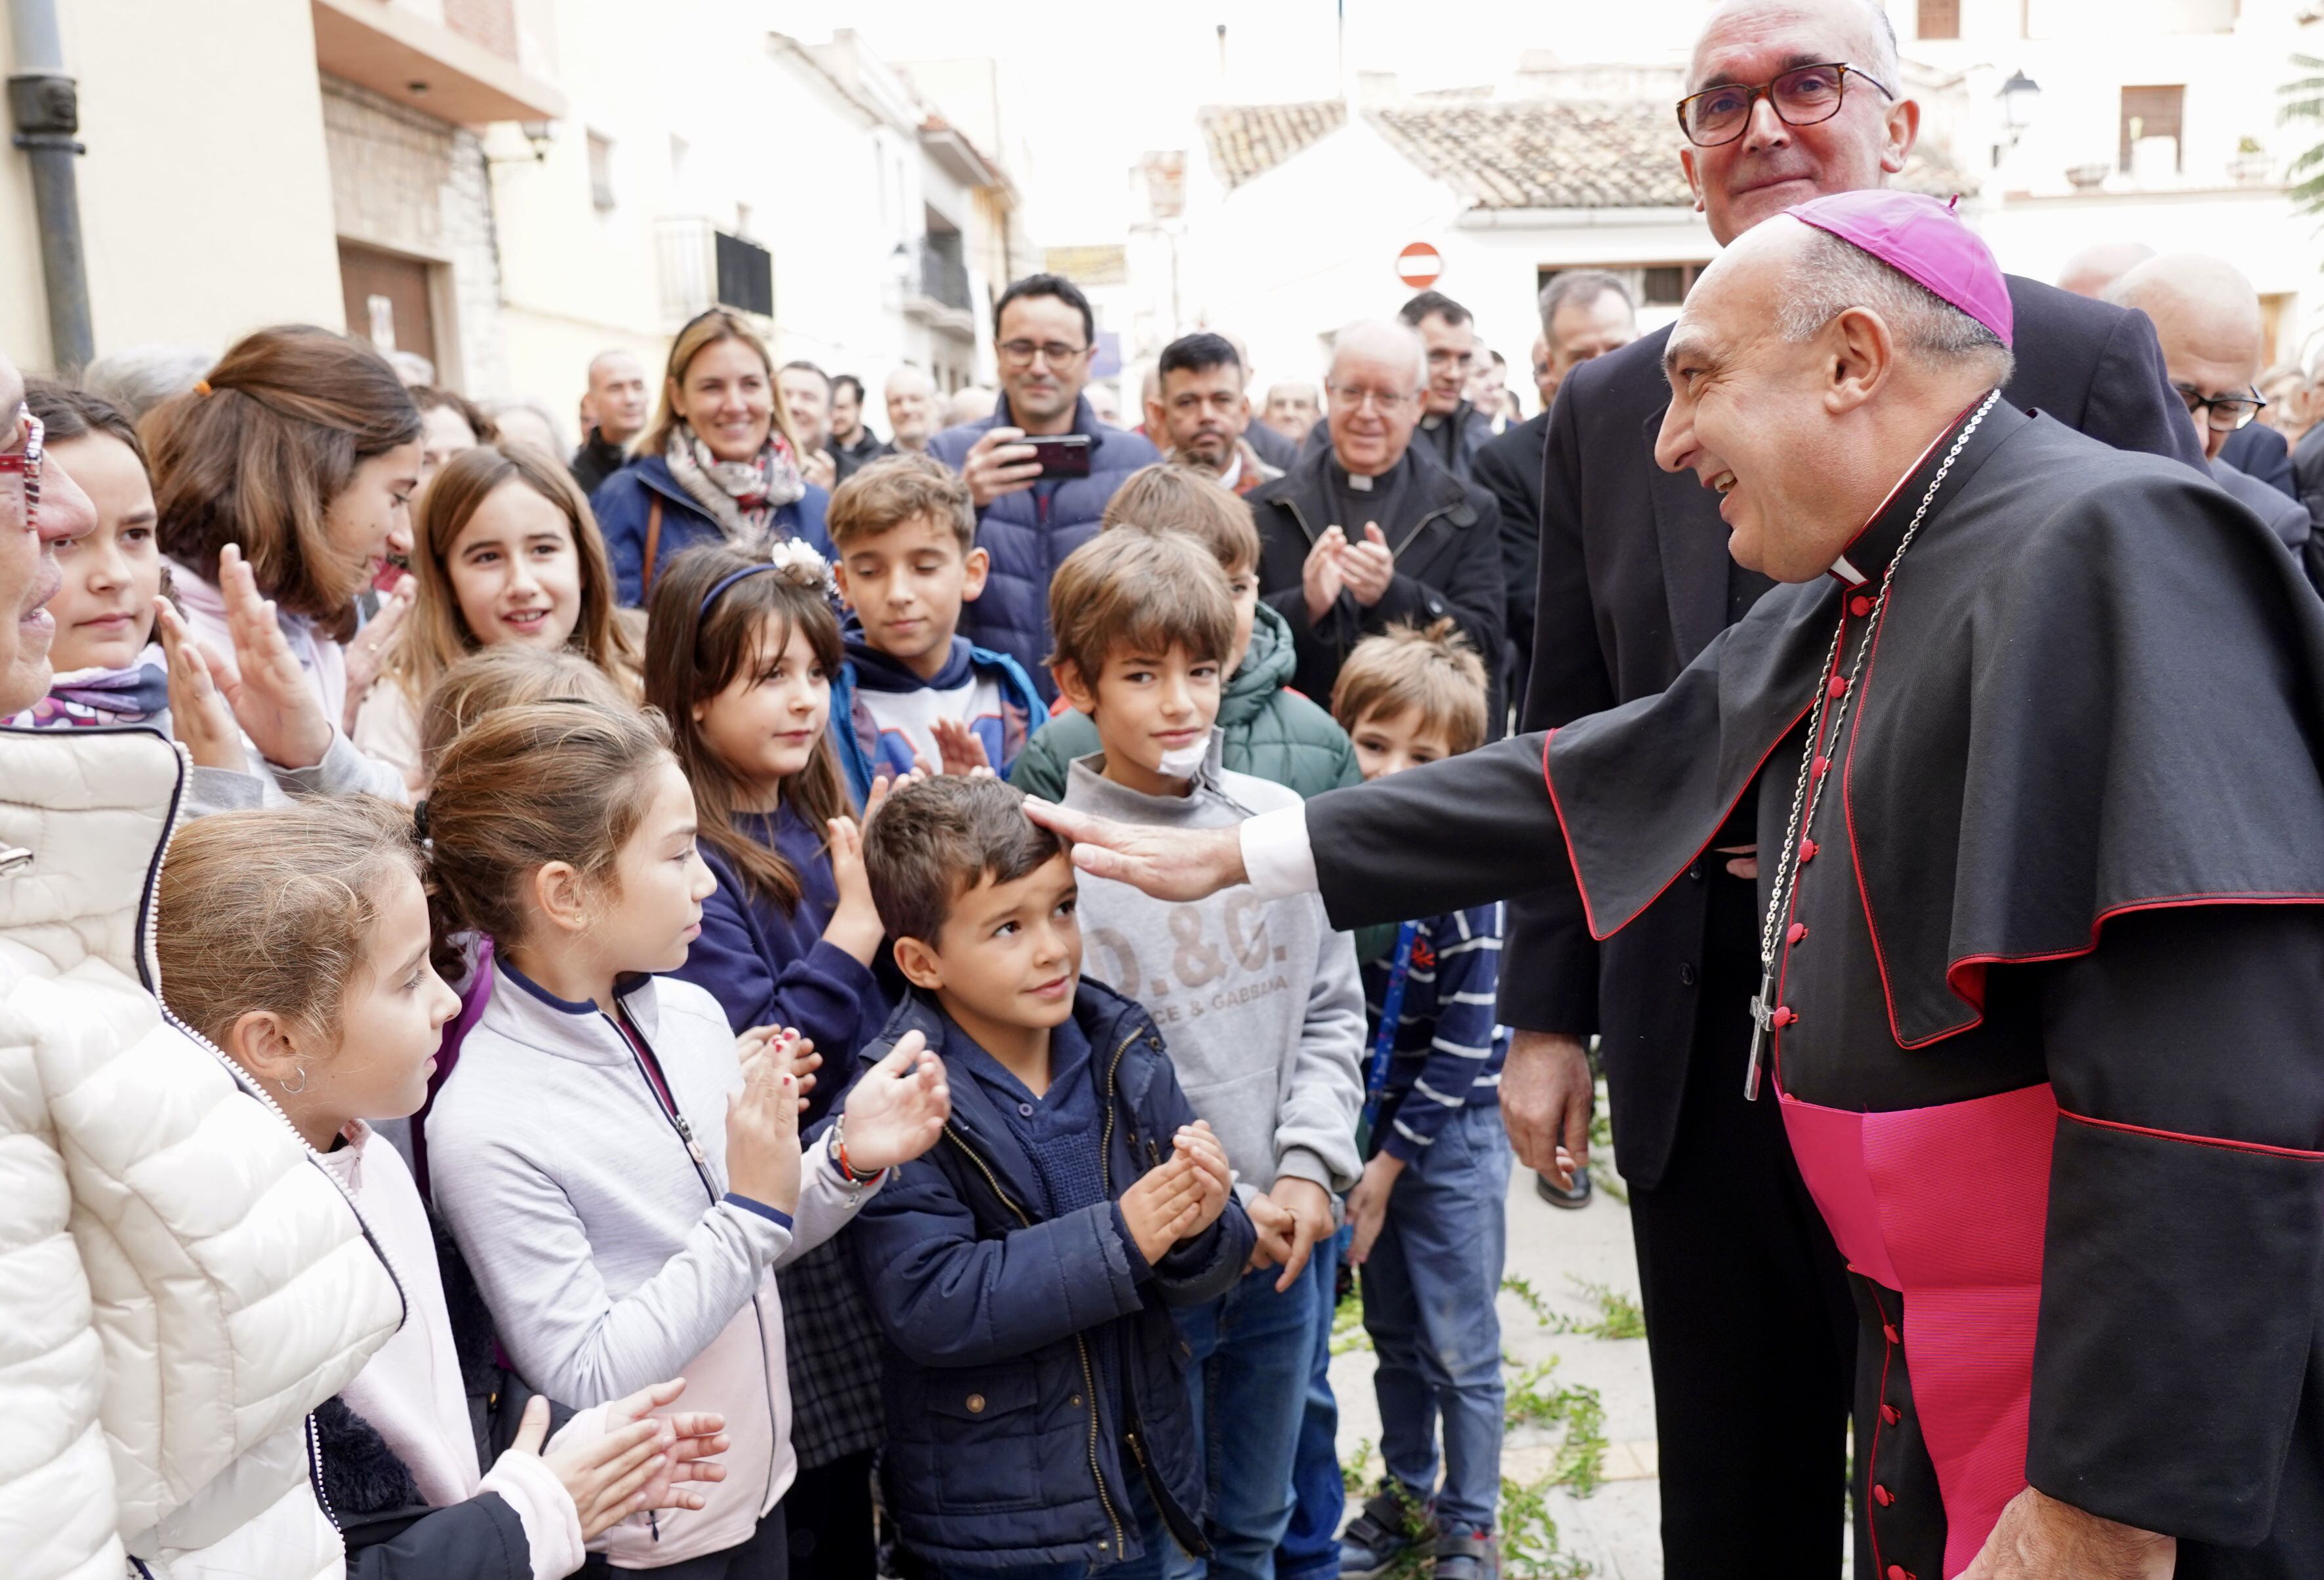
M307 0L70 0L58 21L88 146L98 351L223 351L284 321L344 328ZM0 349L49 367L30 179L21 153L0 156Z

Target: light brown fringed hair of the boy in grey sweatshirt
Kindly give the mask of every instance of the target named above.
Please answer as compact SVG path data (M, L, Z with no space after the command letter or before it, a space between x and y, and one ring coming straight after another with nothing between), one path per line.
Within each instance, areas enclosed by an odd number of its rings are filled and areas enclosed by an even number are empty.
M1211 551L1185 532L1099 532L1048 581L1050 667L1071 665L1097 690L1120 651L1185 648L1225 665L1234 592Z

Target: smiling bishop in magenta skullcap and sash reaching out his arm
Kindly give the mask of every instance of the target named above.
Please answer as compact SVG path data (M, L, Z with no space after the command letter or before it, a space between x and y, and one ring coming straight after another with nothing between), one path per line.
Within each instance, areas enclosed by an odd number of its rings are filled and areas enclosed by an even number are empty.
M1671 690L1239 830L1037 816L1164 897L1578 883L1608 936L1757 785L1731 1101L1850 1264L1857 1573L2324 1575L2324 604L2001 402L2010 330L1943 204L1801 204L1669 342L1657 458L1789 583Z

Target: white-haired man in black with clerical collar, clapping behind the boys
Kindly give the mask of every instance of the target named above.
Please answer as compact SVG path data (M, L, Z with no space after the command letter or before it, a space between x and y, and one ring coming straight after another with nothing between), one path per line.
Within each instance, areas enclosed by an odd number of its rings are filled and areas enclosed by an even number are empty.
M1308 697L1329 697L1348 651L1397 620L1450 616L1499 667L1494 502L1415 451L1425 383L1413 330L1350 323L1325 379L1325 444L1246 495L1260 525L1260 597L1290 620L1294 683Z

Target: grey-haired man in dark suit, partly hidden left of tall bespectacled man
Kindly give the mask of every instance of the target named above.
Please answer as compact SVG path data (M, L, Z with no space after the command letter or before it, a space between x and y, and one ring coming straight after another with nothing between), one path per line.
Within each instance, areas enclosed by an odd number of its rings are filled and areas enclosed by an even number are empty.
M1548 369L1536 369L1541 416L1532 416L1476 453L1476 481L1501 507L1501 590L1508 597L1511 702L1525 706L1525 676L1534 667L1534 576L1541 567L1541 441L1550 432L1550 400L1566 374L1592 358L1638 339L1638 309L1629 286L1604 270L1564 270L1541 288L1541 344ZM1590 1199L1590 1176L1578 1194L1543 1192L1559 1206Z

